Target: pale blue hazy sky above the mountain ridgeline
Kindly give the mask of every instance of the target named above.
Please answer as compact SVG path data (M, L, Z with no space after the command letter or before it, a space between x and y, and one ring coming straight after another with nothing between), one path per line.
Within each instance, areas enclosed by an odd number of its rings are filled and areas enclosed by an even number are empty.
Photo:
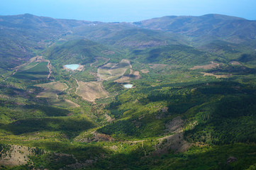
M256 20L256 0L0 0L0 15L87 21L141 21L160 16L219 13Z

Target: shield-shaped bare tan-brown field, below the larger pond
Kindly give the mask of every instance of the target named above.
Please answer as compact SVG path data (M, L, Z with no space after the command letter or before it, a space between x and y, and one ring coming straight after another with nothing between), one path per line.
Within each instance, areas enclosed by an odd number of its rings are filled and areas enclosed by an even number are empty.
M82 96L87 101L95 101L96 98L108 97L108 92L102 87L101 81L83 82L77 81L78 88L76 94Z

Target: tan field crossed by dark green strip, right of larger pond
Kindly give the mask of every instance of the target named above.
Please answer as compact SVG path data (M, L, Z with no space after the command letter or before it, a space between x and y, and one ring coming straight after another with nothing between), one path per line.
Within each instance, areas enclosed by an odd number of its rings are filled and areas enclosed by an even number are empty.
M132 68L130 61L126 59L121 60L117 64L108 62L108 64L99 67L98 77L102 80L118 79L118 77L122 77L126 70L130 68Z

